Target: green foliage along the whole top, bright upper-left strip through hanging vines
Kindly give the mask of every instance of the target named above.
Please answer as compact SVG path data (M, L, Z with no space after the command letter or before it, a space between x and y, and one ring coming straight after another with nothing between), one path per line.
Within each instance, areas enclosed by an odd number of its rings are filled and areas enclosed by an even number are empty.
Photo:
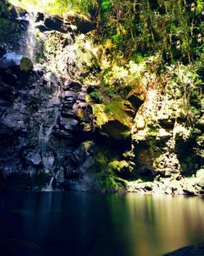
M203 2L197 0L10 0L33 11L63 16L81 11L92 16L103 40L109 39L115 57L129 58L162 51L166 61L190 62L203 51ZM101 38L100 38L101 40Z

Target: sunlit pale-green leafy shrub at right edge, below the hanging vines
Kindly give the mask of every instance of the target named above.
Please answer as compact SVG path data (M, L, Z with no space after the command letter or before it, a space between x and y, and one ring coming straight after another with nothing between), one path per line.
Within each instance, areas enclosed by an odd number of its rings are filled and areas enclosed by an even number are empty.
M170 106L166 111L170 114L175 110L175 118L184 116L186 124L191 126L193 120L199 118L201 114L199 102L202 100L202 79L193 65L178 63L166 69L171 75L171 79L166 84L166 92L171 95L166 102L166 107Z

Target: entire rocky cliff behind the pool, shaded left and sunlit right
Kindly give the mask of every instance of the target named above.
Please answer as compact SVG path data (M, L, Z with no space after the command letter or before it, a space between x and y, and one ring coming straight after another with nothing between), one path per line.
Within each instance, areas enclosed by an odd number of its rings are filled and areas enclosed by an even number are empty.
M184 106L184 86L150 80L147 89L137 84L123 100L111 101L95 80L82 82L100 72L86 34L95 28L91 20L38 13L30 26L24 10L3 5L0 186L42 189L51 182L84 190L98 172L102 190L204 195L204 101L195 104L194 91L191 109ZM35 58L20 55L22 46Z

